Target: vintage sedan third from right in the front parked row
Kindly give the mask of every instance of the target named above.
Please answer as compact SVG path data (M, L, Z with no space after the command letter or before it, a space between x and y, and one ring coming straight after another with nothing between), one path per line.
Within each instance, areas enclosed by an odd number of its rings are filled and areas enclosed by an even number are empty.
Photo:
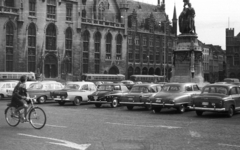
M134 106L141 106L149 109L146 105L148 98L161 91L159 84L135 84L130 92L120 99L120 105L126 106L128 110L132 110Z

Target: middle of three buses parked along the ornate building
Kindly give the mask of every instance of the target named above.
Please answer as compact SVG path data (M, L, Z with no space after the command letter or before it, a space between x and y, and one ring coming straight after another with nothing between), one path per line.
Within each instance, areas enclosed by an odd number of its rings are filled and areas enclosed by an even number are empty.
M121 82L125 80L125 75L123 74L83 74L82 80L89 82Z

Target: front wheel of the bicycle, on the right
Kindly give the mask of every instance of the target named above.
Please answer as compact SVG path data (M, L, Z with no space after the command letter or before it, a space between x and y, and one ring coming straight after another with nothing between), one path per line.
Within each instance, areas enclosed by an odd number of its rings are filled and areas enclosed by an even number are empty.
M29 122L35 129L42 129L47 121L44 110L40 107L33 108L29 113Z

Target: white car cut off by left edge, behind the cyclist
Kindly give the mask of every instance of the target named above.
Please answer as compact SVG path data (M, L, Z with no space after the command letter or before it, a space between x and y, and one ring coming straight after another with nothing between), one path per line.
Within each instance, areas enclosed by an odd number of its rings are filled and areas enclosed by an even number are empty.
M2 81L0 82L0 99L12 96L12 92L18 81Z

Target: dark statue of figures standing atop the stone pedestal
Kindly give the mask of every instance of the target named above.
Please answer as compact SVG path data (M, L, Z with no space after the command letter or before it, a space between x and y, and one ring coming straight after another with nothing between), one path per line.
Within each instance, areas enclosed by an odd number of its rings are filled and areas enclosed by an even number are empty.
M179 16L179 30L181 33L196 33L195 28L195 10L189 0L183 0L183 11ZM186 7L188 6L188 7Z

